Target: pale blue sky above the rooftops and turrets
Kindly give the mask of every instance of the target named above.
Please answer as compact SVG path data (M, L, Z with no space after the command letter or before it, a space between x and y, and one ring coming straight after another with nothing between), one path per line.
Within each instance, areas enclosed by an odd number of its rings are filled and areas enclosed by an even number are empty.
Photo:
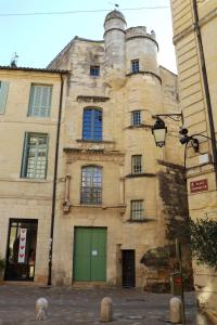
M114 3L124 13L128 28L146 26L148 32L156 32L158 62L176 73L169 0L0 0L0 65L10 65L16 52L18 66L44 68L75 36L102 40L104 17L115 8ZM142 9L149 6L167 8ZM8 15L88 10L105 11Z

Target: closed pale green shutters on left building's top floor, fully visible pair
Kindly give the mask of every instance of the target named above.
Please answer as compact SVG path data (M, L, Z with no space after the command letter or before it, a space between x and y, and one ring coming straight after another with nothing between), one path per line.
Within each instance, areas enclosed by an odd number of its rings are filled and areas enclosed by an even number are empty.
M49 117L51 113L52 86L31 84L28 116Z

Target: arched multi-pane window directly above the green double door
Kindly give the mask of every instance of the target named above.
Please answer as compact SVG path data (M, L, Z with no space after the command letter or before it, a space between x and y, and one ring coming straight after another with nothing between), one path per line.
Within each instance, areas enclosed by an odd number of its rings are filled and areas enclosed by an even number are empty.
M102 204L102 167L82 167L80 203L87 205Z

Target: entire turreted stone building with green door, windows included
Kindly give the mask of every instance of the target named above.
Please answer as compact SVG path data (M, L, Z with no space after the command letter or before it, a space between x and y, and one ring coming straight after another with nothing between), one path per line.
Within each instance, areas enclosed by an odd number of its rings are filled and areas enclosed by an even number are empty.
M178 125L168 120L165 148L155 146L151 132L154 115L179 112L177 76L158 66L157 51L154 31L127 29L124 15L113 11L105 17L104 40L75 37L48 66L71 72L55 283L143 286L146 277L158 277L156 270L145 273L141 259L168 244L166 217L188 213L177 200L168 203L163 188L165 174L171 180L182 170ZM170 185L168 197L178 187L175 180ZM179 197L186 199L184 186Z

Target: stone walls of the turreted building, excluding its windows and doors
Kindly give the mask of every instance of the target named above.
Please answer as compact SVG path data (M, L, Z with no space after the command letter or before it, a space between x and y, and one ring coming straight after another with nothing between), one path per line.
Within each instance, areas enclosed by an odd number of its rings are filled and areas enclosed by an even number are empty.
M156 277L155 270L150 272L141 263L144 252L169 243L165 218L169 212L164 209L159 191L161 172L166 173L167 169L157 161L183 164L177 122L167 120L165 148L155 146L151 132L153 115L180 112L177 76L158 66L154 31L149 34L140 26L126 29L125 18L117 11L106 16L104 28L104 41L76 37L49 65L49 68L71 70L64 133L65 213L56 218L53 276L56 283L71 284L75 280L72 265L76 227L102 226L107 229L107 284L122 285L123 252L133 250L136 285L144 286L148 276ZM132 72L133 60L139 61L138 73ZM100 67L100 76L90 75L92 65ZM102 108L103 139L100 142L82 140L86 107ZM132 112L138 109L141 122L133 126ZM139 174L132 173L133 155L142 156ZM87 165L103 168L100 206L80 204L80 173ZM144 204L144 216L142 220L132 220L130 202L140 199Z

